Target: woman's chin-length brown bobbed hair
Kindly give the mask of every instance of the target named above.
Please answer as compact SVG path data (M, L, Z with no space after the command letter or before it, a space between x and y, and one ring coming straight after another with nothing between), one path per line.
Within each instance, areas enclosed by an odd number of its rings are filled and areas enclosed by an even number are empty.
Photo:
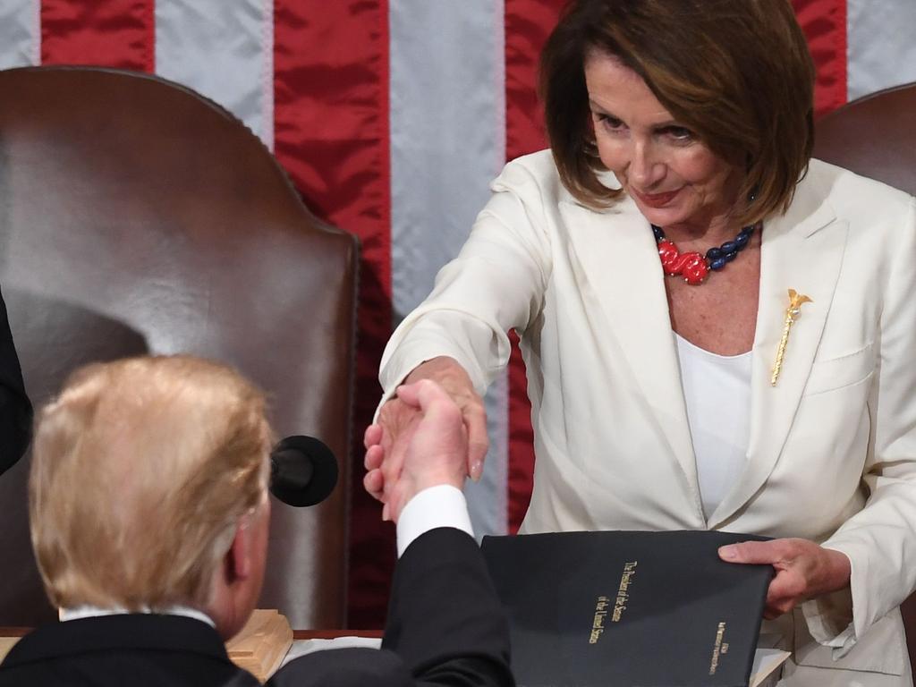
M566 188L594 208L606 188L585 88L597 51L636 71L680 125L745 166L735 214L784 212L813 146L814 67L789 0L573 0L540 58L553 158Z

